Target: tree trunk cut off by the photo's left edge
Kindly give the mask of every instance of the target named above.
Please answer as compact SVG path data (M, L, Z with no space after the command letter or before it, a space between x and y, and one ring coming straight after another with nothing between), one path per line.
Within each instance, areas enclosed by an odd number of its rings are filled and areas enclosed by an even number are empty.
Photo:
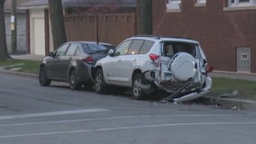
M0 0L0 59L11 58L7 51L5 34L5 0Z

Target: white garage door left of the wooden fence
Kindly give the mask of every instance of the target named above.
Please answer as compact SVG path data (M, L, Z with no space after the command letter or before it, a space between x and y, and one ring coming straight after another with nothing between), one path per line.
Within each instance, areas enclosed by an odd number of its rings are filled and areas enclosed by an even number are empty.
M44 33L44 20L43 18L33 19L33 35L34 35L34 54L45 55L45 33Z

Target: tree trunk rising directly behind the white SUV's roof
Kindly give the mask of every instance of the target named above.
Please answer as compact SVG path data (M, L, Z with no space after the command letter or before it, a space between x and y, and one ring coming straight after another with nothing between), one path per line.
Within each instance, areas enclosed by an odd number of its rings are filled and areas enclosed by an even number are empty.
M138 34L152 34L152 0L137 0Z

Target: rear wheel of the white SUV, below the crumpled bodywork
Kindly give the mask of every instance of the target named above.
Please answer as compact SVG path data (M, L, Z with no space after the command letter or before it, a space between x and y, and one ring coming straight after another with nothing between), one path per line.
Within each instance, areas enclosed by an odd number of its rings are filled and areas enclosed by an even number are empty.
M133 77L133 98L134 99L142 99L145 96L142 88L137 84L143 84L143 76L142 74L136 74Z

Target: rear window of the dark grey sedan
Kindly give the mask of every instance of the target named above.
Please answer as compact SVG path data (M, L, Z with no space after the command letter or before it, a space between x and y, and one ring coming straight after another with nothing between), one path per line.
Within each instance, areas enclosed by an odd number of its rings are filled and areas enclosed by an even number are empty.
M108 51L104 45L97 43L83 43L82 48L86 53L96 53L98 51Z

